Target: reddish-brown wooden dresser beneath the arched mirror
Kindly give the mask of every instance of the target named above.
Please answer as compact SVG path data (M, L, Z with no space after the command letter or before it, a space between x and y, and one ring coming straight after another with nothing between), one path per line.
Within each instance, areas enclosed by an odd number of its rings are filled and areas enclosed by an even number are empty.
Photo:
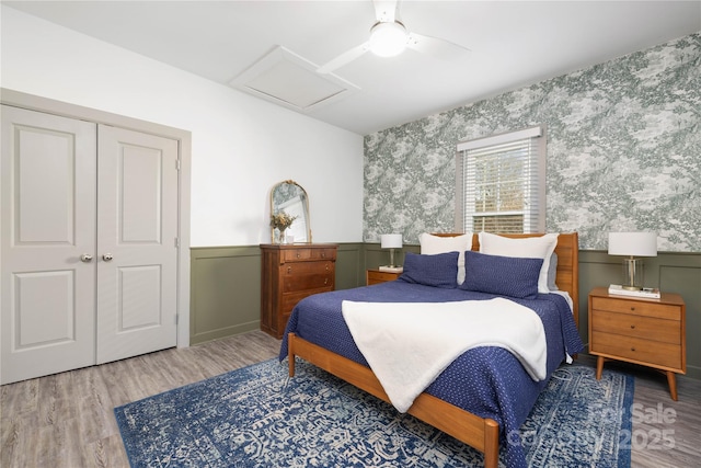
M283 338L300 299L334 289L336 249L331 243L261 244L261 330Z

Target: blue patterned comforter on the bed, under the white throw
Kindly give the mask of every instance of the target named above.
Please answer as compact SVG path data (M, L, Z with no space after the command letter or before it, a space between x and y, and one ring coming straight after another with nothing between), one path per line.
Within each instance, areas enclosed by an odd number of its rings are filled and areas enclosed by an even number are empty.
M484 293L410 284L401 279L309 296L292 310L283 336L279 358L283 361L287 357L287 333L295 332L299 338L368 366L343 319L343 300L444 303L494 297ZM543 322L548 343L548 377L563 362L565 353L573 355L584 349L572 311L562 296L539 294L537 299L509 299L535 310ZM463 353L425 392L481 418L496 421L507 467L521 468L526 467L526 458L518 430L547 383L548 378L533 381L508 351L483 346Z

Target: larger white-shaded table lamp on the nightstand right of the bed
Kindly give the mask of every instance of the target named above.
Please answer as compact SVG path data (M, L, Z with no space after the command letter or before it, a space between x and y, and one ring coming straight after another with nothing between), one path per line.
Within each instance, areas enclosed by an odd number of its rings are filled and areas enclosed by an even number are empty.
M656 232L609 232L609 255L625 255L623 283L627 290L643 288L643 260L635 256L657 256Z

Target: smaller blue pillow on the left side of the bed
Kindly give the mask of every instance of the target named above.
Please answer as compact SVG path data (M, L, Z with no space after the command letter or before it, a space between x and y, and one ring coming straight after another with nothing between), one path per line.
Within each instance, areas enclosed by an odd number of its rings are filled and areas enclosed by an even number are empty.
M458 287L458 252L437 253L435 255L406 252L404 270L400 279L406 283L443 287Z

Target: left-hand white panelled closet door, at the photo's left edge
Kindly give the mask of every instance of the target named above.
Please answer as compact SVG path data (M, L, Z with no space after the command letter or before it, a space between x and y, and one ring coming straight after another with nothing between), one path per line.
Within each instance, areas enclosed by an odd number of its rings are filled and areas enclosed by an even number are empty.
M2 106L1 384L94 364L95 134Z

